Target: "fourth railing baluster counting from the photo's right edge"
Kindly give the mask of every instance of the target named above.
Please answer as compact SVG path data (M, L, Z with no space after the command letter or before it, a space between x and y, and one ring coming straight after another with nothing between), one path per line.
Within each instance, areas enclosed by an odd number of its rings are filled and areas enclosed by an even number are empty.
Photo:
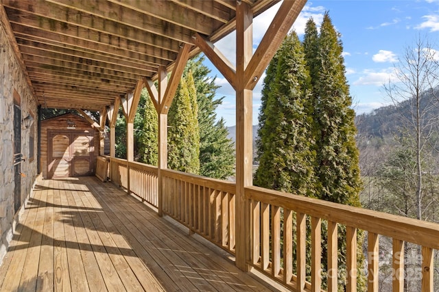
M346 226L346 291L357 291L357 228Z

